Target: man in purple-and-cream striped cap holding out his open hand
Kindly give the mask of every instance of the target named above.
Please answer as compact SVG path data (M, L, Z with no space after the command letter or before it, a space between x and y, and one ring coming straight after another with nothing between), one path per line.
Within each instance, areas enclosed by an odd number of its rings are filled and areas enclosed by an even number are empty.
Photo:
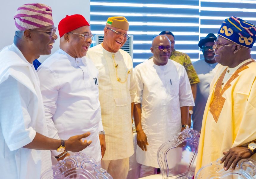
M51 8L25 4L14 16L14 43L0 51L0 168L1 178L40 178L51 167L49 150L78 152L90 133L68 140L48 136L39 79L33 61L51 53L55 34Z

